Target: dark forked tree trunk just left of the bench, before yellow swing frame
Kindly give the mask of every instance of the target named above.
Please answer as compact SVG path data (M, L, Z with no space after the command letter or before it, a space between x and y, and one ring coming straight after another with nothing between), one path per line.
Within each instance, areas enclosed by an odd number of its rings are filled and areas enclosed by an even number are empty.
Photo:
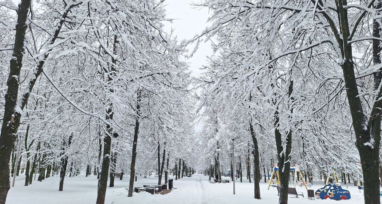
M288 95L290 100L291 94L293 92L293 81L290 81ZM290 107L291 113L293 113L293 109ZM290 153L292 149L292 131L290 130L286 136L286 146L285 149L282 144L282 135L278 130L278 111L275 112L275 140L277 147L277 160L278 160L278 173L280 176L280 193L279 193L279 204L288 204L288 183L289 183L289 175L290 175Z

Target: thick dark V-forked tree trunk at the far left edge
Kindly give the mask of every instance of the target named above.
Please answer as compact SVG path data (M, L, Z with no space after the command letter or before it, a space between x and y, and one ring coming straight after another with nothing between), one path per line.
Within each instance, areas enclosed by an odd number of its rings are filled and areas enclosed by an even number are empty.
M76 5L73 5L76 6ZM66 6L65 10L62 11L61 20L57 23L53 35L50 37L49 45L53 45L55 40L60 34L61 27L66 19L66 16L73 6ZM39 75L42 73L42 68L46 59L49 56L50 51L48 50L44 55L44 58L37 63L36 72L34 72L34 77L31 78L29 84L27 85L26 90L24 91L23 97L21 98L21 103L18 103L18 92L19 92L19 77L21 67L23 66L23 55L24 42L25 42L25 33L27 29L26 19L28 17L29 8L31 7L31 0L21 0L18 4L18 18L16 24L16 34L15 34L15 43L13 48L13 55L10 61L10 73L8 77L8 89L5 95L5 105L4 105L4 117L3 125L0 136L0 204L5 204L6 195L9 190L9 160L11 155L11 149L16 140L16 133L20 125L20 119L22 110L26 106L29 95L32 92L34 84ZM21 104L21 107L19 106ZM16 107L16 108L15 108Z

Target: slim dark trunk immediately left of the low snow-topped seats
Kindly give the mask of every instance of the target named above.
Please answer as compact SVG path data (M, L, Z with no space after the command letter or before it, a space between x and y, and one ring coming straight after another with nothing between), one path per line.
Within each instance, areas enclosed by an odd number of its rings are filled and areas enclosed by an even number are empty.
M141 91L138 92L137 105L136 105L136 117L135 117L135 128L134 128L134 140L133 140L133 151L131 154L131 166L130 166L130 183L129 183L129 194L128 197L133 196L134 190L134 177L135 177L135 159L137 157L137 141L139 133L139 118L141 117Z

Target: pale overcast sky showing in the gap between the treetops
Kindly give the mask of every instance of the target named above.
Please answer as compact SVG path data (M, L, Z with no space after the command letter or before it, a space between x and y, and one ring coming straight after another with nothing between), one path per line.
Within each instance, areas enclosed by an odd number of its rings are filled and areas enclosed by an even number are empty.
M171 31L171 28L175 29L174 33L178 36L178 39L192 39L194 35L201 34L201 32L208 26L208 8L196 9L190 4L192 2L198 2L198 0L166 0L167 4L167 18L176 19L172 24L166 25L166 29ZM194 49L193 46L189 46L190 52ZM185 59L189 65L191 71L196 74L200 74L199 68L203 64L206 64L206 56L212 54L210 43L202 43L194 56L190 59Z

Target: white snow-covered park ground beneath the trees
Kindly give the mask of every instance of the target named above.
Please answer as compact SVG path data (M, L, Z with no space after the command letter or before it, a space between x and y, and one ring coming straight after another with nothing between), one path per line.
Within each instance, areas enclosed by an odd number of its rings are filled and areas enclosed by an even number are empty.
M170 176L170 178L173 178ZM175 178L175 177L174 177ZM225 177L228 178L228 177ZM11 187L6 200L7 204L95 204L97 198L97 177L96 176L77 176L65 177L63 191L58 191L58 177L46 178L42 182L34 180L32 185L23 186L25 176L16 178L15 187ZM164 181L164 178L163 178ZM237 182L239 181L239 182ZM149 194L146 192L134 193L133 197L127 197L128 178L123 180L115 179L115 186L107 188L107 204L268 204L277 203L277 189L267 190L264 180L260 183L261 200L253 198L253 183L248 183L243 178L243 183L236 180L236 194L233 195L232 183L209 183L208 176L194 174L193 177L184 177L180 180L174 179L174 189L166 195ZM158 178L154 176L142 178L134 183L134 186L154 185ZM323 182L315 182L311 189L315 191L321 188ZM346 186L342 186L346 189ZM305 188L297 187L298 192L304 193L304 198L288 198L290 204L301 204L303 202L325 203L325 204L362 204L364 203L363 193L359 193L358 188L352 183L348 190L351 199L348 201L333 200L308 200ZM301 197L301 198L300 198Z

